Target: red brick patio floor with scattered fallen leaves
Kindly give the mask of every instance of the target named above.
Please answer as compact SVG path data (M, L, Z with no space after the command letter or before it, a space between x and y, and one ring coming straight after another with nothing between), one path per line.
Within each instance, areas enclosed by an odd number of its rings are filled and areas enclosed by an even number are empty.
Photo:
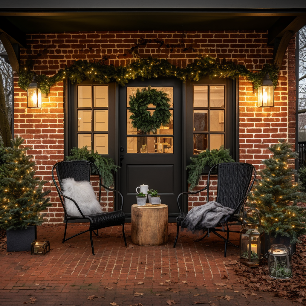
M68 235L85 228L70 226ZM119 306L168 305L167 300L178 306L195 302L297 305L274 297L274 293L256 291L252 295L226 265L238 259L238 249L229 246L224 258L224 243L213 234L195 242L196 234L181 232L173 248L176 226L169 225L168 244L143 247L132 243L131 226L126 225L125 248L121 227L112 227L100 230L99 238L93 238L96 255L92 256L88 233L62 244L62 225L39 226L37 232L39 240L50 241L51 250L45 256L0 252L0 305L22 305L31 298L39 305L71 306L114 302ZM239 235L232 235L238 244ZM143 294L134 297L135 293ZM97 298L87 299L93 295Z

